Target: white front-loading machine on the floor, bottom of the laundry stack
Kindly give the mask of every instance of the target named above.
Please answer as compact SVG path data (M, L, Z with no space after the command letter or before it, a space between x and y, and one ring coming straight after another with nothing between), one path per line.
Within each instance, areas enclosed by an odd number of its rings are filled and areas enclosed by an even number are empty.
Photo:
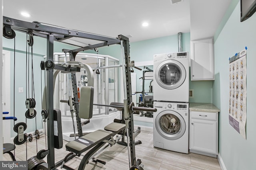
M188 153L188 103L154 102L154 147Z

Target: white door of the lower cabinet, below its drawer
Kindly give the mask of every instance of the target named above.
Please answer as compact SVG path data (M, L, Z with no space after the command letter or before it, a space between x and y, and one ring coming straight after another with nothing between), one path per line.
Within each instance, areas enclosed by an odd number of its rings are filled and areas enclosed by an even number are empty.
M217 122L191 119L190 149L217 153Z

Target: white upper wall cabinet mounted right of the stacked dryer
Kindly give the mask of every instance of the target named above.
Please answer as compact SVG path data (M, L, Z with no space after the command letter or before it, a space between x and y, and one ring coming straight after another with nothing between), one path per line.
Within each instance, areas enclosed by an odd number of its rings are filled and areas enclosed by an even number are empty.
M190 41L191 80L214 80L213 38Z

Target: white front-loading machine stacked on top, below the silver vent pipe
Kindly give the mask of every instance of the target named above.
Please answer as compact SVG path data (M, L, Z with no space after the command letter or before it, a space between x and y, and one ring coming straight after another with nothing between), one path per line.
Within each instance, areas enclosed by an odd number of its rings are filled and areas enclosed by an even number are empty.
M154 55L154 100L188 102L188 58L188 52Z

